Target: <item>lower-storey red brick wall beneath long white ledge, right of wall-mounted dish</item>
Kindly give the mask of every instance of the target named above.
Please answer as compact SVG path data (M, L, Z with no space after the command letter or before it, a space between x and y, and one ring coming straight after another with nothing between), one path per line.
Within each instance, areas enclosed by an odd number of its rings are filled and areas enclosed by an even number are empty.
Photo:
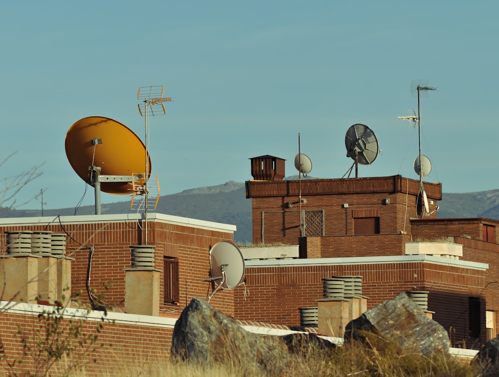
M281 267L251 266L248 262L250 295L245 300L244 290L235 289L236 318L299 326L299 308L316 307L323 296L321 279L342 275L362 276L368 308L414 287L430 291L429 310L436 312L434 319L448 331L454 329L455 344L467 340L468 334L468 316L458 321L456 313L468 308L468 297L479 292L485 281L485 271L428 262ZM435 299L437 291L439 298L445 297L446 305Z

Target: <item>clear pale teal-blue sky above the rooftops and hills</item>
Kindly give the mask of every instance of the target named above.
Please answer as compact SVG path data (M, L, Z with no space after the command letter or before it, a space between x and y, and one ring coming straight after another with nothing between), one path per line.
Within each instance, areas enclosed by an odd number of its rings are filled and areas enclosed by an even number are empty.
M0 13L0 177L38 167L19 209L94 203L64 140L88 116L143 139L141 86L164 85L166 115L150 119L161 194L245 182L250 158L312 161L310 175L342 178L345 133L371 128L381 152L359 177L418 179L421 153L443 192L499 188L497 1L8 1ZM41 166L40 166L41 165ZM6 186L4 186L6 187ZM31 199L31 200L30 200ZM101 201L129 200L103 193ZM26 202L26 204L23 204Z

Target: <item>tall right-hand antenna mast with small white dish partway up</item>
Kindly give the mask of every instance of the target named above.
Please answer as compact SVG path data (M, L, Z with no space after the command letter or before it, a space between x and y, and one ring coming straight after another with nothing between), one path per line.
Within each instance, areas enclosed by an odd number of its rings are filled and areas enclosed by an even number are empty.
M419 175L419 193L422 195L425 201L425 211L429 213L429 208L428 208L428 199L426 197L426 192L425 188L423 186L423 179L430 174L431 171L431 162L428 157L421 155L421 98L427 98L428 97L428 92L432 90L437 90L437 88L433 86L428 86L428 80L412 80L411 83L411 93L413 97L418 98L418 115L416 116L416 112L414 112L414 116L411 117L398 117L400 120L410 120L412 122L417 122L418 123L418 139L419 139L419 155L414 160L414 169L416 170L416 174ZM426 159L426 160L425 160ZM417 164L416 164L417 163ZM429 169L428 174L424 174L423 170L424 169ZM422 214L422 216L424 213Z

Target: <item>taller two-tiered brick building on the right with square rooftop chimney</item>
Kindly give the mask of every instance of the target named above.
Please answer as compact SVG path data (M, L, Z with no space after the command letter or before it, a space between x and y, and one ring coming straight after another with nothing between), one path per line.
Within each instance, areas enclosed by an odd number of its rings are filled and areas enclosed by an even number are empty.
M368 308L401 291L428 292L428 311L453 346L496 336L499 221L437 218L441 184L420 190L401 176L283 181L282 162L251 159L253 243L298 244L299 259L247 261L250 300L236 291L237 318L296 324L298 309L322 298L322 279L351 275L362 277Z

